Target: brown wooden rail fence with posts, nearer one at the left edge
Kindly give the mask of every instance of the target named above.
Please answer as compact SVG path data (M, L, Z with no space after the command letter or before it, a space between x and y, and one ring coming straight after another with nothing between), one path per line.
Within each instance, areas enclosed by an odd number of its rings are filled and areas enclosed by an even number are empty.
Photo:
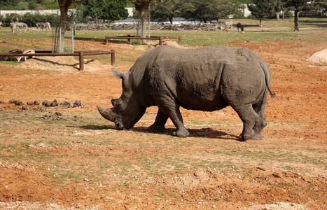
M75 51L74 53L51 53L51 51L36 51L36 53L0 53L0 57L32 57L32 56L78 56L79 57L79 70L84 70L84 56L87 55L105 55L111 54L111 65L116 62L115 50L111 51Z

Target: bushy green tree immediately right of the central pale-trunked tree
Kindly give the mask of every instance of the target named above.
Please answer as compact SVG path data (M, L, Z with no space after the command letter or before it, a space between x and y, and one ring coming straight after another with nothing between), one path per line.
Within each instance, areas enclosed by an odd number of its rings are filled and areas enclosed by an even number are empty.
M172 24L173 18L181 15L181 0L172 0L169 2L160 2L151 8L151 19L160 20L169 19Z

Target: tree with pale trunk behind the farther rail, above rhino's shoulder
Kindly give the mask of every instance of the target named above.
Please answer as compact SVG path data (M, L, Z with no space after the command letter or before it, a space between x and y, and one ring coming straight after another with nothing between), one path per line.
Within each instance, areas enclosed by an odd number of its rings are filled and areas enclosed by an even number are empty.
M135 9L139 12L139 18L141 19L141 37L146 37L146 19L150 15L151 6L158 3L158 0L130 0L134 3ZM144 43L144 40L141 41Z

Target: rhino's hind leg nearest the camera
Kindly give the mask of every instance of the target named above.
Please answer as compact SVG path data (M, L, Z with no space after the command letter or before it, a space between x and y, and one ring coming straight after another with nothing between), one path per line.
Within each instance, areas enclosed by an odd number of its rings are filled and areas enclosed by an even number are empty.
M259 116L256 111L253 110L252 104L245 104L241 106L232 106L232 108L237 112L239 118L243 122L243 131L239 135L241 141L246 141L248 139L254 139L255 132L253 130L254 125L259 120Z

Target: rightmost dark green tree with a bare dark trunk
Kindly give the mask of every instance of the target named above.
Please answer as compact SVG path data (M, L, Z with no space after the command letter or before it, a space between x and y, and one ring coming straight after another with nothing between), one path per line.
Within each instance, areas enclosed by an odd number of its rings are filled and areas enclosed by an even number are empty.
M294 31L299 31L298 15L300 11L319 10L326 7L326 0L286 0L285 7L294 11Z

